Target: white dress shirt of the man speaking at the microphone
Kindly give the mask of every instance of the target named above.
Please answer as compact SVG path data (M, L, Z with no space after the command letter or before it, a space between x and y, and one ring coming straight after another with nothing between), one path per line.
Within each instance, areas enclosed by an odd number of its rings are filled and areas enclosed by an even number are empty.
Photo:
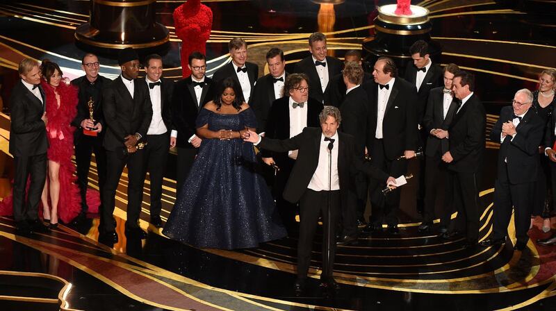
M318 149L318 165L309 186L307 188L314 191L322 190L340 190L340 178L338 176L338 132L334 133L332 137L334 140L334 147L332 148L332 171L329 171L329 142L325 141L325 135L320 135L320 147ZM328 178L331 177L331 187L328 184Z

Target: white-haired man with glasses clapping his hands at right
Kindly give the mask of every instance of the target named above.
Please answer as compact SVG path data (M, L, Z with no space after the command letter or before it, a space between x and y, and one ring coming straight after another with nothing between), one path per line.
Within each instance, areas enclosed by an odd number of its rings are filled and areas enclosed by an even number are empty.
M509 219L514 208L516 246L522 251L527 246L530 216L540 168L539 144L543 139L544 124L534 109L530 90L518 90L512 106L500 110L500 117L491 131L491 140L500 143L498 174L494 183L493 235L481 246L499 246L506 242Z

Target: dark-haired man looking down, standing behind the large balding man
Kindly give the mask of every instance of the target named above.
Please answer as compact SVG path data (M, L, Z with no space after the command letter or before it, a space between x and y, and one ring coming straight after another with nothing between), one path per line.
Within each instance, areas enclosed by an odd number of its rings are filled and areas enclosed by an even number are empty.
M425 148L425 142L429 133L425 131L423 126L423 117L427 109L427 102L429 99L430 90L434 87L443 86L442 83L442 68L439 65L432 63L429 54L429 44L423 40L417 40L409 48L413 64L408 64L405 69L404 78L409 83L417 87L417 122L419 126L419 146ZM419 183L417 188L417 210L423 213L425 187L427 185L425 180L425 160L419 160Z

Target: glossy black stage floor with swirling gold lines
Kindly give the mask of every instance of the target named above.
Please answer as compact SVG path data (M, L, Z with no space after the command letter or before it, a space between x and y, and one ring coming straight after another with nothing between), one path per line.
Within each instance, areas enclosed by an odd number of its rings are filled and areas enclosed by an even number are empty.
M179 42L172 11L183 1L158 1L157 19L170 29L164 75L180 78ZM314 1L318 2L318 1ZM383 4L383 1L376 1ZM388 1L384 1L386 3ZM320 6L301 0L208 0L214 14L207 44L208 75L229 60L227 42L244 37L249 60L268 73L270 47L286 53L288 68L304 58L306 38L329 33L329 49L342 58L372 37L375 1L347 0ZM418 4L418 3L414 3ZM423 1L430 10L432 37L443 46L442 63L455 62L477 76L477 94L488 115L487 133L522 87L534 90L537 74L556 67L555 24L550 18L488 0ZM0 1L0 95L7 106L17 81L17 63L26 56L49 58L66 76L81 76L81 51L74 28L88 19L89 1ZM320 17L320 19L319 19ZM320 20L320 24L317 22ZM116 61L100 58L101 74L115 78ZM9 109L0 117L0 196L10 191ZM491 233L498 146L487 144L480 184L480 239ZM412 161L411 169L416 162ZM163 187L165 221L176 198L175 155L170 154ZM90 186L97 188L92 162ZM13 219L0 218L0 307L2 310L556 310L556 248L534 240L550 233L530 230L525 251L512 246L464 249L461 239L418 233L416 180L402 191L400 235L362 235L338 247L334 275L341 289L319 285L320 232L313 246L308 290L295 296L295 237L258 249L195 249L167 239L147 223L149 182L145 183L141 226L146 240L126 239L127 174L117 190L115 216L120 242L97 243L98 215L79 226L59 226L48 234L21 237ZM513 236L513 226L509 228Z

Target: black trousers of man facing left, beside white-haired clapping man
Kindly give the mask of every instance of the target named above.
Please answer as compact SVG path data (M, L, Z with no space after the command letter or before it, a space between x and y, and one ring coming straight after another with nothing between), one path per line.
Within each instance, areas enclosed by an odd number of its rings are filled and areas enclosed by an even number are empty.
M448 170L448 183L452 189L453 204L457 211L454 230L464 233L468 242L479 237L479 178L475 172Z

